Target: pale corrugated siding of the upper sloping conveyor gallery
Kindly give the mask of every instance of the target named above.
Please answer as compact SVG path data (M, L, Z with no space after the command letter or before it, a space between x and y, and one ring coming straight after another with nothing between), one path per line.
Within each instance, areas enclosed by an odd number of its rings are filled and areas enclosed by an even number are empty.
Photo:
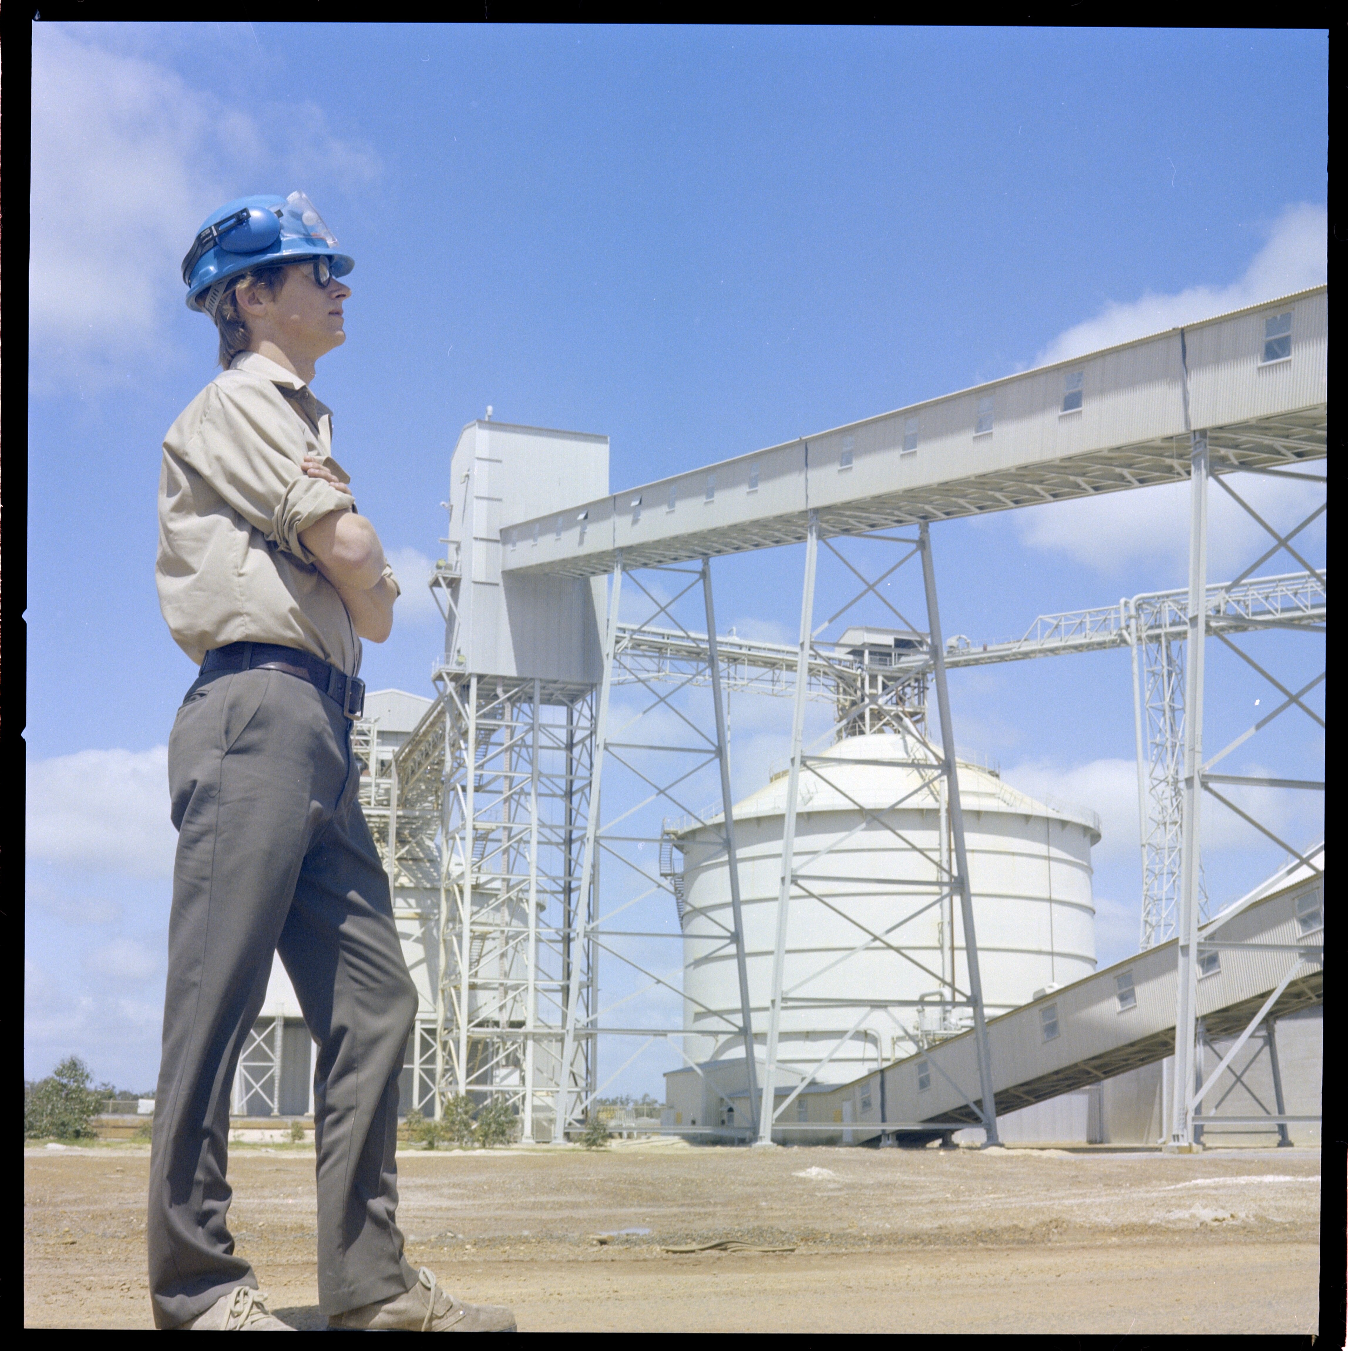
M1293 359L1287 367L1260 367L1264 315L1285 307L1294 311ZM1318 288L1186 328L1190 426L1253 423L1324 405L1326 327L1328 288ZM1064 376L1072 370L1083 374L1082 409L1063 415ZM507 569L611 566L608 555L615 547L656 550L652 557L663 558L758 547L801 538L806 508L836 513L883 499L902 516L905 494L912 497L913 509L925 515L931 515L932 493L940 499L940 515L967 515L975 508L960 505L960 484L1017 473L1031 484L1056 465L1062 465L1063 474L1055 480L1052 496L1082 496L1097 489L1078 481L1074 457L1126 455L1151 447L1155 458L1158 449L1164 451L1186 432L1183 392L1179 332L1158 334L820 432L804 442L719 461L615 497L596 496L586 503L577 493L574 509L590 512L584 539L578 531L565 535L561 546L552 538L540 539L531 554L513 555ZM982 399L993 400L989 435L975 435ZM904 430L912 419L918 423L917 450L905 454ZM852 455L846 469L844 451ZM755 463L760 486L751 493L747 485ZM1172 470L1164 455L1160 463L1167 474L1187 477L1187 457L1179 450ZM705 501L708 476L716 478L713 503ZM671 484L678 503L674 512L666 509ZM643 503L642 519L633 526L635 496ZM977 509L995 505L994 499ZM598 528L601 521L606 532ZM779 538L773 538L774 528ZM543 534L550 535L546 521Z

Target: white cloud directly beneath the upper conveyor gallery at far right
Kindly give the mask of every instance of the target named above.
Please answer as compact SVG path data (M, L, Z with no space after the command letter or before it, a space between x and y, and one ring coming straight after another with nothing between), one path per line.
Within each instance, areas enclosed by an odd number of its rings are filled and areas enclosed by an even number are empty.
M1324 500L1314 484L1275 482L1266 474L1232 474L1230 486L1271 526L1290 530ZM1189 484L1162 484L1104 497L1027 507L1016 512L1024 544L1066 554L1097 573L1116 573L1131 563L1166 563L1183 577L1189 558ZM1274 539L1220 488L1208 490L1208 576L1212 581L1236 577L1268 549ZM1322 561L1325 526L1321 519L1293 542L1310 562ZM1259 567L1259 576L1301 571L1301 565L1279 550Z

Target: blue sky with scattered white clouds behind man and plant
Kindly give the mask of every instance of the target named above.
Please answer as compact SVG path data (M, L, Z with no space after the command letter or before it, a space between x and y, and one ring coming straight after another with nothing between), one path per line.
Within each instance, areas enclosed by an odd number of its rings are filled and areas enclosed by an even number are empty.
M619 489L1322 281L1326 59L1313 31L36 24L26 1073L73 1050L145 1086L158 1063L162 746L192 670L154 594L155 485L212 376L177 265L216 205L304 188L355 257L315 389L415 582L488 404L608 434ZM945 630L1179 586L1185 520L1158 489L941 526ZM1214 521L1216 578L1255 540ZM728 561L721 623L792 634L798 576L798 551ZM435 612L407 590L365 674L430 693ZM1214 728L1248 721L1249 681L1210 680ZM1098 944L1125 955L1126 657L952 693L962 753L1104 815ZM737 789L781 723L744 724ZM1322 743L1266 754L1314 767ZM1222 827L1209 885L1279 861Z

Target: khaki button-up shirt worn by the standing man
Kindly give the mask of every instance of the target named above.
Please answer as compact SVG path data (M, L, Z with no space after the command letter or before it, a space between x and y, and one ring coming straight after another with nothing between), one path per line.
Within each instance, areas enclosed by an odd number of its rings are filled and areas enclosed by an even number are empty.
M258 353L242 353L182 411L159 471L159 609L200 663L249 640L300 647L354 676L361 640L342 597L300 543L347 493L300 467L332 459L332 413L308 385Z

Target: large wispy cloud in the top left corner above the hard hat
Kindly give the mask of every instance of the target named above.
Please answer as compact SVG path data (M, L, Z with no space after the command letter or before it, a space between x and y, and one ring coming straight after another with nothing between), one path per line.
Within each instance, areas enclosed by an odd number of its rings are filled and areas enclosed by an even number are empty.
M312 195L378 173L313 104L240 112L101 36L32 30L31 334L68 373L162 347L180 261L224 201L259 182Z

